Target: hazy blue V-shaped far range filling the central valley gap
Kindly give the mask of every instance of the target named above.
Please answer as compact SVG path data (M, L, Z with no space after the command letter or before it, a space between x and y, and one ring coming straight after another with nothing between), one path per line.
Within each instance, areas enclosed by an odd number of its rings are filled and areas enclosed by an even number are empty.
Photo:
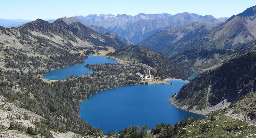
M159 30L171 29L176 26L186 25L193 22L222 23L227 18L216 19L211 15L201 16L187 12L170 14L143 14L135 16L126 14L101 14L88 16L75 16L85 23L94 26L102 26L108 30L117 32L134 44L149 37Z

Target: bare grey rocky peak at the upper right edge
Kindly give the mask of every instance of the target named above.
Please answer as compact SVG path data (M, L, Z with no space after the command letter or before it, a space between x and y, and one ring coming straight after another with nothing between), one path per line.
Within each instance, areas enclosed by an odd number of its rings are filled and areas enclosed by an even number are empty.
M256 6L234 15L209 35L202 38L204 47L218 49L237 48L256 38ZM207 40L208 39L208 40Z

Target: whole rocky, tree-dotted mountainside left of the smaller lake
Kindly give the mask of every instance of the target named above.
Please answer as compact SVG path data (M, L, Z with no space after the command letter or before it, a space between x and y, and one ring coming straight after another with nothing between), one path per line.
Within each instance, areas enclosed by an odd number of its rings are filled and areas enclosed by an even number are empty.
M72 51L122 45L122 41L78 22L67 25L61 19L53 23L37 19L18 28L0 27L0 68L52 70L83 61L84 56Z

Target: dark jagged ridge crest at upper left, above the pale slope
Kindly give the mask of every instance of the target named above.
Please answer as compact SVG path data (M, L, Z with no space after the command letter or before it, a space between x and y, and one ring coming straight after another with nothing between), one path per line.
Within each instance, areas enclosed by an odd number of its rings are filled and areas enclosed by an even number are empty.
M19 27L22 31L38 31L43 33L54 33L56 35L61 35L61 37L67 37L73 42L79 38L82 41L90 42L92 45L101 45L101 46L119 46L124 45L120 40L110 38L109 36L102 35L95 32L89 27L83 25L80 22L74 22L71 24L66 24L62 19L57 19L53 23L49 23L45 20L37 19L33 22L29 22L25 25ZM114 41L115 42L114 42ZM110 42L110 43L107 43Z

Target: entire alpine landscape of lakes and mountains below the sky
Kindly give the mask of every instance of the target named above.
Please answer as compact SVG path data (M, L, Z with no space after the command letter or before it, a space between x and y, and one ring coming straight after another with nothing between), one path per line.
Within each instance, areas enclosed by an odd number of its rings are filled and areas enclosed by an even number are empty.
M0 137L256 138L240 12L0 19Z

